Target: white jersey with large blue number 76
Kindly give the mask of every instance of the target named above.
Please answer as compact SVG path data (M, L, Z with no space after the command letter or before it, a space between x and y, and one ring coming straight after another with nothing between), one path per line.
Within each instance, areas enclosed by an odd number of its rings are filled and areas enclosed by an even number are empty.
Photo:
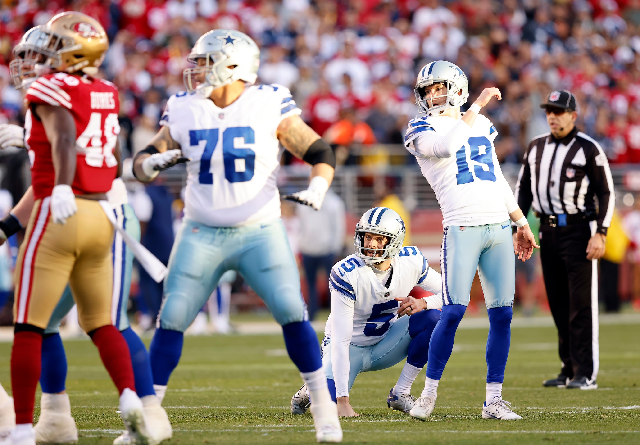
M187 218L211 227L242 227L280 217L276 175L280 122L299 115L281 85L253 85L225 108L197 92L169 98L161 125L187 163Z

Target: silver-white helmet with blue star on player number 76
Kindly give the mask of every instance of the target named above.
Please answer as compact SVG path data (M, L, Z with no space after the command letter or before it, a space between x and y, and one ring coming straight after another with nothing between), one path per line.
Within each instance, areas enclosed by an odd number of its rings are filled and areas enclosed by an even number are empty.
M250 36L240 31L213 29L198 38L187 58L194 64L206 58L206 65L184 70L182 78L188 92L198 90L209 97L216 88L237 80L253 85L258 77L260 49ZM232 65L236 67L228 68ZM195 76L204 76L204 81L196 81Z

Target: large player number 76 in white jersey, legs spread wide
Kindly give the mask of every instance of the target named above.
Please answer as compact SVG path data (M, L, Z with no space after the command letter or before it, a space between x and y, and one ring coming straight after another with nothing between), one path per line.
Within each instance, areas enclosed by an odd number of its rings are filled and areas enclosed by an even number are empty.
M276 186L282 143L313 166L307 190L287 198L319 209L335 156L300 118L287 88L253 85L259 56L255 42L239 31L214 29L201 36L188 56L196 66L184 70L188 91L170 97L163 127L134 159L141 181L178 162L186 161L188 172L185 216L150 346L154 388L163 398L184 331L221 275L236 270L282 325L289 357L310 388L317 441L340 442L337 407L302 300Z

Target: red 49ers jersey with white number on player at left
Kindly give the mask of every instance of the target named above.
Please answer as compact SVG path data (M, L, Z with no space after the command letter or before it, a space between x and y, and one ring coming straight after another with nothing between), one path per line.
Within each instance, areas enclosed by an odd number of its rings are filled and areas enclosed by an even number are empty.
M48 104L67 108L76 121L76 176L72 189L76 195L106 193L116 177L113 154L120 133L118 90L111 82L63 72L38 77L26 94L29 104ZM24 140L31 161L31 184L35 198L51 195L54 168L51 143L44 125L26 113Z

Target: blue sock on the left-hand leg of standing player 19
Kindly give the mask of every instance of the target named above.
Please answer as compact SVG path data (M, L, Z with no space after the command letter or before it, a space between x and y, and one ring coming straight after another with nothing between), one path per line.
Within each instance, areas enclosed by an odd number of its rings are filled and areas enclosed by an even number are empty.
M427 376L433 380L442 378L442 371L451 357L453 342L456 339L456 329L462 320L467 306L461 304L448 304L442 307L440 321L431 334L429 342L429 361L427 364Z

